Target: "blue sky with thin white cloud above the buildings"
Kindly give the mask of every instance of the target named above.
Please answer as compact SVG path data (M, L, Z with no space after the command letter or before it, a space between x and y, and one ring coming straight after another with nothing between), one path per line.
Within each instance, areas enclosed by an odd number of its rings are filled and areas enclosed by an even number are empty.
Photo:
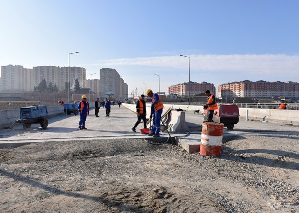
M0 0L0 66L114 68L167 93L189 81L299 82L299 0Z

